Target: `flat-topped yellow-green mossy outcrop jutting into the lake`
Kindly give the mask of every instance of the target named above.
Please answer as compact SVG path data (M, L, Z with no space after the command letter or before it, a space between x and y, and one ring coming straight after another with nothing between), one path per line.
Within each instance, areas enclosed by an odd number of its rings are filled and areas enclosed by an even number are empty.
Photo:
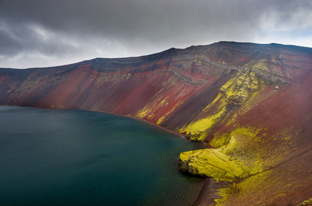
M262 171L261 161L240 158L240 135L254 137L259 130L239 128L216 137L211 144L217 149L182 152L179 169L191 174L233 181Z

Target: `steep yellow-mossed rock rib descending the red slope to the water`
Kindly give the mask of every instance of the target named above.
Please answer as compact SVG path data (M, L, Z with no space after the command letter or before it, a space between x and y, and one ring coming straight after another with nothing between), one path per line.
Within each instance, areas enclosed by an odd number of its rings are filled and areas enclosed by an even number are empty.
M203 118L195 118L179 132L186 134L191 140L204 140L213 128L231 115L233 110L268 84L261 76L256 77L251 68L238 70L236 76L223 85L218 96L202 110L199 117Z

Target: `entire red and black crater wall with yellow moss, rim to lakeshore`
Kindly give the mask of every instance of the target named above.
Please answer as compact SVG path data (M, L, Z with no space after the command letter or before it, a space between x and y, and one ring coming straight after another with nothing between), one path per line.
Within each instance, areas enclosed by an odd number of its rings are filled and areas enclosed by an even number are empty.
M234 181L218 204L295 205L312 194L311 84L312 48L218 42L0 69L0 104L152 121L215 148L181 153L180 169Z

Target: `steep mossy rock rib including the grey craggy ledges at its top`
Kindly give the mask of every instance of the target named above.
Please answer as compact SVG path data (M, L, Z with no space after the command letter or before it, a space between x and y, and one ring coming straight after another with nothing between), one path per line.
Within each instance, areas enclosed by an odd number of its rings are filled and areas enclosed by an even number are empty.
M224 84L217 97L210 102L197 118L179 130L191 140L203 141L207 135L238 107L251 98L256 91L270 84L288 84L284 77L287 72L278 70L278 61L271 56L268 59L253 60L240 67L236 76Z

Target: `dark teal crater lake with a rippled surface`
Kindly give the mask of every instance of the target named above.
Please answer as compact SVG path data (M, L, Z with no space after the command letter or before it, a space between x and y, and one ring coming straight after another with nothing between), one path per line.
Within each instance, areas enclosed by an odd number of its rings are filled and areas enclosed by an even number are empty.
M188 205L202 149L146 122L92 111L0 106L0 205Z

